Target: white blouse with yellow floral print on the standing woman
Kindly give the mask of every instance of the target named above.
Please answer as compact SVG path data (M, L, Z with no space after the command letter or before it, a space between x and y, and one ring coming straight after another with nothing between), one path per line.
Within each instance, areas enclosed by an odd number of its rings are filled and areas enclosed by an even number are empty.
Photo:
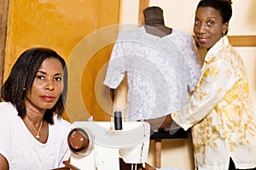
M189 105L172 119L191 127L195 168L256 167L256 122L246 69L240 55L222 37L208 52Z

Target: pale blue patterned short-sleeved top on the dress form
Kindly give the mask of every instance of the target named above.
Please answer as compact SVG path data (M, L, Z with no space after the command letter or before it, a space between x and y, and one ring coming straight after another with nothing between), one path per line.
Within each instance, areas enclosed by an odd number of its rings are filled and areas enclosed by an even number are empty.
M114 44L104 84L128 77L126 121L166 116L188 103L201 72L193 38L184 31L157 37L144 27L123 31Z

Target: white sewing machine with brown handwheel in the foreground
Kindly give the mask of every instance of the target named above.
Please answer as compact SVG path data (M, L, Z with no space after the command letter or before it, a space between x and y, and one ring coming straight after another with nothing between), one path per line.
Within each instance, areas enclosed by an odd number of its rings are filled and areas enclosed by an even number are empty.
M112 122L73 122L68 144L70 163L86 170L119 170L119 157L125 163L143 163L148 157L148 122L123 122L114 130Z

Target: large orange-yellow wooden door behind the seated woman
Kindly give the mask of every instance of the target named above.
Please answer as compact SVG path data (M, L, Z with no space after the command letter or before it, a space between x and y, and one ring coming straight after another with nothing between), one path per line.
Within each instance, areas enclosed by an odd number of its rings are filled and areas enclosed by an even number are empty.
M7 4L10 8L3 80L8 77L15 60L26 48L55 49L70 64L67 65L69 77L77 77L79 61L84 57L88 58L90 54L89 62L79 72L82 78L75 79L75 84L69 82L68 96L72 96L72 99L68 99L70 108L64 117L70 122L85 120L90 115L96 117L97 121L109 120L109 113L97 105L94 89L100 84L100 88L104 88L100 91L107 90L102 86L102 79L96 82L96 77L108 62L113 43L97 48L95 53L90 53L93 46L85 44L82 53L75 56L73 54L77 53L77 47L80 47L86 37L119 23L119 0L9 0ZM110 34L111 38L116 37L117 29L109 32ZM101 38L93 38L90 39L90 44L99 44L101 41ZM78 63L69 62L73 61L74 57L79 58L76 60ZM76 84L81 86L78 87ZM79 94L72 94L75 88L80 88ZM79 110L77 99L83 99L82 103L86 110ZM111 108L111 101L106 100L109 102L108 108Z

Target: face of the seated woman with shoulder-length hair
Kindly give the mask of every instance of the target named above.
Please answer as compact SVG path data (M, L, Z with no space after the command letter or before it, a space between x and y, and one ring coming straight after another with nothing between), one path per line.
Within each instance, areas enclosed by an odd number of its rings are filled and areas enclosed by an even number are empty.
M60 60L44 59L32 83L32 88L28 90L25 99L26 107L43 112L53 108L62 92L63 74Z

